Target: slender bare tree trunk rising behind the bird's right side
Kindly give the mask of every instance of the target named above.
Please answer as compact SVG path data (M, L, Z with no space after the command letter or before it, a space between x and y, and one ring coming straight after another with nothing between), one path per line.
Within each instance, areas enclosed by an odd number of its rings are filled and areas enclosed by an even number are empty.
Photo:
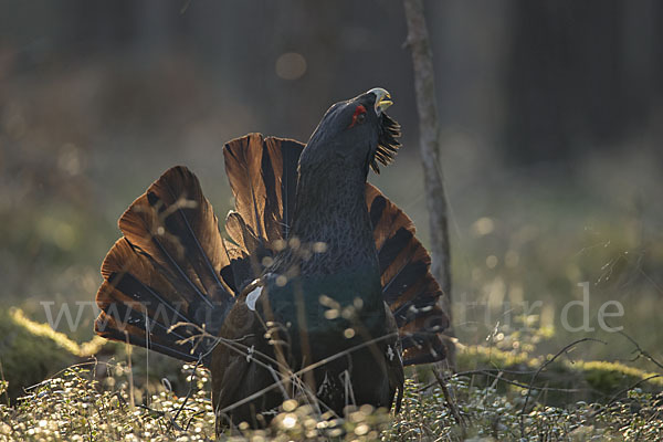
M422 0L403 0L406 20L408 22L407 45L412 51L414 67L414 92L417 94L417 110L419 114L419 137L425 201L429 211L431 231L431 272L442 287L441 307L451 317L451 271L449 253L449 229L446 194L440 168L440 127L438 125L438 108L435 106L435 82L433 56L425 25ZM453 336L453 326L446 330ZM448 361L455 367L455 345L453 339L446 339L449 349Z

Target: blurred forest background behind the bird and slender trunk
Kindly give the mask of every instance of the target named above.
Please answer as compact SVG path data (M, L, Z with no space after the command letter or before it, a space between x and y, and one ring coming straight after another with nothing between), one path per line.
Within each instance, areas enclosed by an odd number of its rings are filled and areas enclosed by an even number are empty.
M404 147L370 180L428 241L400 1L0 3L0 308L45 320L41 302L93 301L117 218L165 169L196 171L223 219L225 140L305 141L332 103L375 86ZM661 356L663 3L425 7L461 341L517 348L525 324L548 351L592 336L610 345L583 358L628 359L598 326L614 299L610 325ZM582 282L596 332L570 333L560 312ZM82 318L57 329L88 339L91 305Z

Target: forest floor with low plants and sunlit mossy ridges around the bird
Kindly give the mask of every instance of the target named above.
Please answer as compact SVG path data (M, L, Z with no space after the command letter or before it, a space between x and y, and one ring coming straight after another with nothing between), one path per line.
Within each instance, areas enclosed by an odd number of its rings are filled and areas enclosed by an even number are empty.
M194 441L214 438L210 377L118 344L78 346L13 311L25 333L77 364L9 393L0 381L0 441ZM663 375L619 362L570 359L570 343L555 355L532 357L488 345L459 346L456 373L409 368L402 410L348 410L341 419L315 403L285 400L265 430L240 424L228 440L382 441L657 441L663 440ZM96 358L85 358L94 351ZM640 350L636 356L646 358ZM50 358L50 359L49 359ZM32 360L40 359L32 355ZM60 360L62 362L62 359ZM53 362L51 362L53 364ZM657 364L652 360L652 364ZM4 376L3 376L4 379ZM13 396L10 400L10 396Z

